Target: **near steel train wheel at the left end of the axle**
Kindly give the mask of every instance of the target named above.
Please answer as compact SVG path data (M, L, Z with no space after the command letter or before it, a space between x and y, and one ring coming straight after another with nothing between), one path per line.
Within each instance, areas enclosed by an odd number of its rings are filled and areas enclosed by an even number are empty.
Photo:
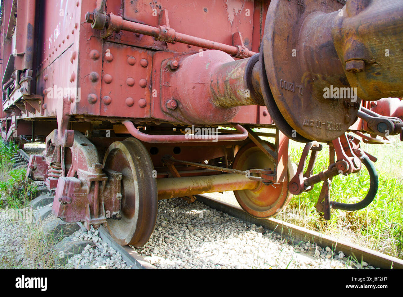
M157 182L147 150L137 139L112 143L105 153L104 168L122 173L121 220L107 220L107 228L120 245L143 246L157 220Z

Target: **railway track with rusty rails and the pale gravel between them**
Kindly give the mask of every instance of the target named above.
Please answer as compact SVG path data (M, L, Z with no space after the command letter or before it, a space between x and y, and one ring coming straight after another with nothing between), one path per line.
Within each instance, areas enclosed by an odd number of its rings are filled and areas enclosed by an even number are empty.
M19 155L15 156L16 160L28 161L29 155L23 150L19 151ZM163 207L159 205L159 211L164 213L158 214L156 230L150 242L142 248L122 247L113 241L104 227L99 228L102 243L118 251L131 268L403 268L401 259L280 220L259 220L249 216L240 207L206 195L197 195L197 202L190 205L181 199L160 203L166 204ZM181 216L181 213L185 216ZM177 221L170 222L170 218ZM81 224L79 226L84 229ZM235 227L231 229L231 226ZM175 246L175 243L181 241L182 245ZM234 261L231 257L239 248L242 249L239 242L251 245L248 252L257 257L260 263L252 261L242 265L234 264L237 257ZM266 249L263 261L257 255L262 250L260 243L270 246L269 252ZM287 258L285 254L291 257ZM241 253L241 257L246 256ZM282 257L282 262L273 262L273 259ZM338 265L332 267L335 262Z

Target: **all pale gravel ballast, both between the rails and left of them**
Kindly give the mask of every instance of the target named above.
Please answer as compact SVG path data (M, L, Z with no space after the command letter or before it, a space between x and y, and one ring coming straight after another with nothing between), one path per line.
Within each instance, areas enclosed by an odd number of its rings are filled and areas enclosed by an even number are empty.
M172 199L160 201L158 206L150 241L135 249L156 268L374 269L365 262L350 261L331 247L288 242L262 226L246 224L199 202L188 204ZM25 220L4 219L4 212L0 209L0 262L14 262L15 267L21 268L46 267L30 256L32 226ZM71 237L89 244L69 258L64 268L130 268L118 251L102 242L98 230L80 229Z

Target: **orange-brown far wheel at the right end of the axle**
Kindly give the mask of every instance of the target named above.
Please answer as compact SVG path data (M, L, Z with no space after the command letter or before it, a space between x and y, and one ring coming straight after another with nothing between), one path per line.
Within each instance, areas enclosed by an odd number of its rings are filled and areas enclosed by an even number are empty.
M271 144L268 143L268 145L274 149ZM274 164L253 142L245 144L237 152L233 162L233 169L238 170L263 169L266 167L274 168ZM289 160L288 176L285 182L269 186L260 183L254 190L234 191L239 205L249 215L258 219L266 219L276 215L291 200L288 184L292 172L293 167Z

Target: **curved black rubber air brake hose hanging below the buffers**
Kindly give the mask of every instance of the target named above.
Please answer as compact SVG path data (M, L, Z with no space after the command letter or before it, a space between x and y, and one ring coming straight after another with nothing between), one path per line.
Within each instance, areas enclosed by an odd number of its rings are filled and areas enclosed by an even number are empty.
M376 172L374 163L371 162L367 155L363 155L361 161L368 169L368 173L370 174L370 188L368 189L367 195L363 200L357 203L340 203L330 201L330 206L333 209L355 211L367 207L374 200L376 192L378 192L378 173Z

